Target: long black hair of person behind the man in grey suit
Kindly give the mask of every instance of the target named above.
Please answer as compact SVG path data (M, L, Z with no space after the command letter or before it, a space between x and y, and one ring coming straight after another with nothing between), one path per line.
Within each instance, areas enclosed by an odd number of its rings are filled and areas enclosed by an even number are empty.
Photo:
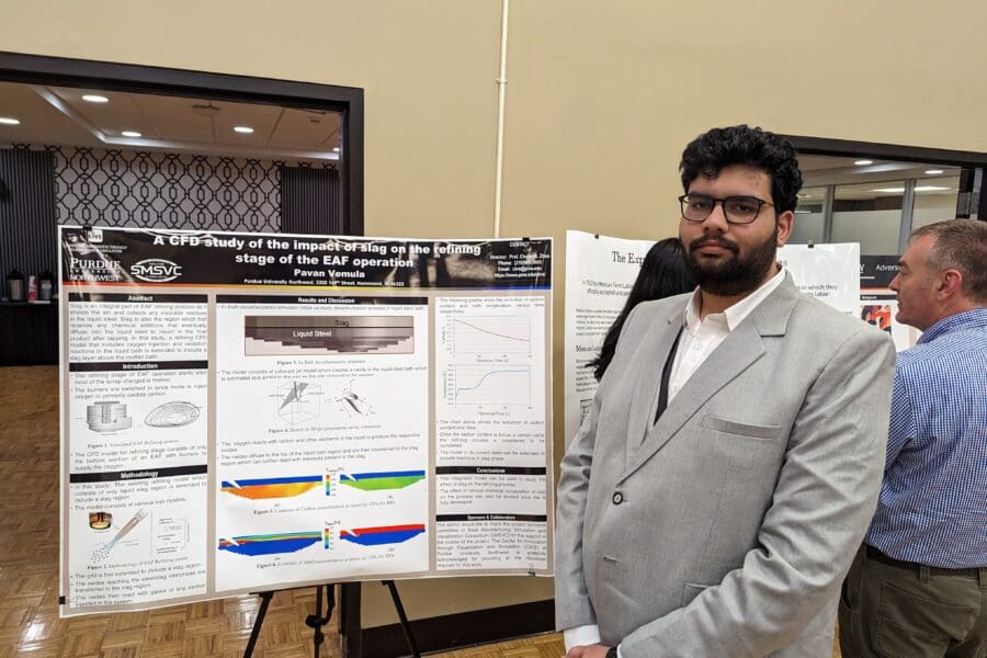
M695 290L695 280L685 268L685 260L682 258L682 243L679 238L666 238L659 240L648 250L644 262L640 263L640 272L627 295L627 302L621 310L621 315L616 317L613 325L606 331L606 338L603 339L603 347L600 348L600 355L586 364L587 367L593 370L593 376L597 381L603 378L606 366L613 360L613 352L616 350L616 341L621 337L621 329L624 328L624 321L631 314L631 310L642 302L648 299L661 299L682 293L690 293Z

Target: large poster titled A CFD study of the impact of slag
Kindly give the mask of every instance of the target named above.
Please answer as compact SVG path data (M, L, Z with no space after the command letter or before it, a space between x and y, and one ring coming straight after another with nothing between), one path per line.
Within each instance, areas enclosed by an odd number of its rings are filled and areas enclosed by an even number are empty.
M63 616L552 575L551 239L59 239Z

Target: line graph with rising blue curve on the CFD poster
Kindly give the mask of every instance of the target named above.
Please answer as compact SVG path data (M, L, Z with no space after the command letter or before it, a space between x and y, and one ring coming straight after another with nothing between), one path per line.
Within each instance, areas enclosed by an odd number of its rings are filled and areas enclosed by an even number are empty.
M531 366L450 365L444 397L446 404L455 406L531 406Z

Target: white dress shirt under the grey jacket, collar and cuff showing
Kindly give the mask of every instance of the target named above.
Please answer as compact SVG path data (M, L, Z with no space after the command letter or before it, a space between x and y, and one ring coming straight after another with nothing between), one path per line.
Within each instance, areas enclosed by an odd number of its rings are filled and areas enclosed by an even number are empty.
M761 286L744 297L723 313L711 313L700 319L702 296L700 288L692 293L692 300L685 305L682 334L679 337L679 347L676 350L676 361L672 363L671 374L668 379L668 402L682 389L695 371L706 361L713 350L737 328L751 311L763 302L768 295L781 285L785 280L785 269L780 268L778 274L765 281ZM661 364L659 364L661 365ZM580 645L592 645L600 642L600 628L595 624L575 626L563 631L563 642L566 651ZM617 657L621 648L617 647Z

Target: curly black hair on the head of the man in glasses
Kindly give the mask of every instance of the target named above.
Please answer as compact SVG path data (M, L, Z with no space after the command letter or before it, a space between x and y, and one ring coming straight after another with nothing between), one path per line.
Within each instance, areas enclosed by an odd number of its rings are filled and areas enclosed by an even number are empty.
M794 211L802 190L795 147L774 133L747 125L713 128L689 143L679 172L682 189L699 175L716 178L724 167L748 164L771 177L771 201L779 213Z

